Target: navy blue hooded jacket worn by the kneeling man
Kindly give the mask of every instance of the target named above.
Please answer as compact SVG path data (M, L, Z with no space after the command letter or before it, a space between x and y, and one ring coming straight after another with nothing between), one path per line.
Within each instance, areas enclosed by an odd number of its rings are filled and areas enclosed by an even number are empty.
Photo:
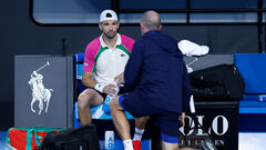
M149 31L133 46L124 71L125 92L135 91L149 104L171 112L190 109L192 88L176 41Z

